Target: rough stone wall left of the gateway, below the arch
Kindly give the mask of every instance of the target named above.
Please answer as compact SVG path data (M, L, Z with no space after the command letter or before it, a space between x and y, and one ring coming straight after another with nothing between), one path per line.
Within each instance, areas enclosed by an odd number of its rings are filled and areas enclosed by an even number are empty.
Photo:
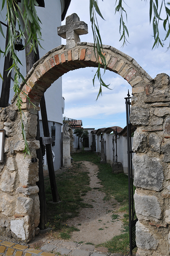
M16 105L0 108L0 129L5 130L4 162L0 163L0 234L30 241L39 231L38 162L32 162L39 141L35 140L37 110L30 107L28 111L23 106L23 112L31 156L23 154L25 143Z

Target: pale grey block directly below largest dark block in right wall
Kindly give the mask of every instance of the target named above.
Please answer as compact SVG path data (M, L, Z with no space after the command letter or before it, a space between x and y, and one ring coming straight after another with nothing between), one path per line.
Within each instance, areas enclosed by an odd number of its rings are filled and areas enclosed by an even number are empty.
M161 208L156 196L134 194L135 212L138 220L161 219Z

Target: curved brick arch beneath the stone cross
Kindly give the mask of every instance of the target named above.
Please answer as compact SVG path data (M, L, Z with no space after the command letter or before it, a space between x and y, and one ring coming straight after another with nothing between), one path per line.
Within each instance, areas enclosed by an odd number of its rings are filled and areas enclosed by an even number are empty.
M132 86L132 93L145 92L147 83L152 80L152 77L133 58L114 47L104 45L103 50L107 63L106 69L118 73L127 80ZM38 105L47 88L63 74L78 68L97 66L94 44L78 43L72 49L60 45L34 64L25 78L26 84L23 84L23 91L34 104ZM21 97L23 102L28 101L22 93Z

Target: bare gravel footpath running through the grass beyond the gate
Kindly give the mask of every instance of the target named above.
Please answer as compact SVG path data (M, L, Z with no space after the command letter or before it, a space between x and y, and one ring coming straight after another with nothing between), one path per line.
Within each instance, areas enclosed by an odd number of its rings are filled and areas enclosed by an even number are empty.
M89 186L92 188L83 196L83 199L85 203L93 205L93 208L82 208L79 216L67 220L67 224L80 229L79 232L73 232L71 236L73 241L100 244L121 234L122 213L117 213L119 204L116 200L103 200L105 193L99 190L102 185L97 178L97 165L87 161L81 161L81 163L86 167L90 178Z

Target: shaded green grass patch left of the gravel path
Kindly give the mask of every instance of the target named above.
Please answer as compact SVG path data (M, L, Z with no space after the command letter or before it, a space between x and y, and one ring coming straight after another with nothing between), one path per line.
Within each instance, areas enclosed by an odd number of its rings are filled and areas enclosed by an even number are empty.
M48 226L53 227L53 230L60 231L59 236L61 238L69 239L69 234L73 228L70 229L65 225L66 220L78 216L80 208L93 207L91 204L84 203L81 197L83 193L91 190L89 176L87 172L81 172L80 163L74 163L73 168L56 174L56 182L61 198L61 202L58 204L52 202L49 178L44 180ZM63 228L65 228L64 232Z

